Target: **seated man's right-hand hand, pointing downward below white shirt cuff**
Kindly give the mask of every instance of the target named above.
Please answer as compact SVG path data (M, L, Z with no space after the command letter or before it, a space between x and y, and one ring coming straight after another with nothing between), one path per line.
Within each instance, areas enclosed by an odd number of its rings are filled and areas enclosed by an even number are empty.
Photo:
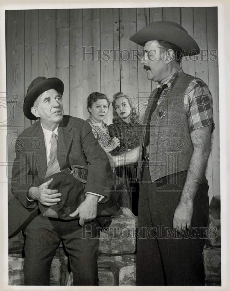
M97 202L99 198L97 195L87 194L85 200L69 216L75 217L79 214L79 224L82 226L85 222L92 221L97 216Z

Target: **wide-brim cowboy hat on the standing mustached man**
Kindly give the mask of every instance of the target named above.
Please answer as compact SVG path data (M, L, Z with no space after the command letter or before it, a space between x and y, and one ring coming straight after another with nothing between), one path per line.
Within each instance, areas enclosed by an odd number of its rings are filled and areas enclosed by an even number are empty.
M188 32L181 25L171 21L151 22L149 26L140 29L129 39L142 47L149 40L171 42L180 47L186 56L193 56L200 52L199 46Z

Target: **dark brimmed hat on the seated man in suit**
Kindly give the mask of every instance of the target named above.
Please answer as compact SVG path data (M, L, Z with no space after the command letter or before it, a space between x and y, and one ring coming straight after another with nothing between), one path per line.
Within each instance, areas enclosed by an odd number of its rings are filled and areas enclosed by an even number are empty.
M33 113L31 113L31 107L33 107L34 101L38 98L40 94L50 89L55 89L58 93L63 95L63 81L58 78L47 79L46 77L37 77L31 82L30 86L28 87L23 104L23 112L28 119L38 119L36 116L33 115Z

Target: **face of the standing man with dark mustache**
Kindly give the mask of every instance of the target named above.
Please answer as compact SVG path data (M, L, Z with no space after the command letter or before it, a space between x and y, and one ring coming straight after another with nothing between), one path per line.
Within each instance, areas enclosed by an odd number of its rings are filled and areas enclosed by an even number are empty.
M165 63L166 53L160 47L157 40L147 41L141 61L147 72L147 78L156 82L161 82L163 80L165 70L167 70Z

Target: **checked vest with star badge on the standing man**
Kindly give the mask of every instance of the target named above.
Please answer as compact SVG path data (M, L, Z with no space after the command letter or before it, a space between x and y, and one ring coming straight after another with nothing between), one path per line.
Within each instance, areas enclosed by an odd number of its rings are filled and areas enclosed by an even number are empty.
M184 94L195 77L182 72L164 98L160 98L151 116L149 130L149 172L154 182L164 176L188 169L193 145L184 108ZM145 112L147 122L156 89L151 93ZM142 136L142 141L145 134ZM140 162L142 161L142 144ZM140 163L141 164L141 163ZM140 169L139 164L139 169Z

